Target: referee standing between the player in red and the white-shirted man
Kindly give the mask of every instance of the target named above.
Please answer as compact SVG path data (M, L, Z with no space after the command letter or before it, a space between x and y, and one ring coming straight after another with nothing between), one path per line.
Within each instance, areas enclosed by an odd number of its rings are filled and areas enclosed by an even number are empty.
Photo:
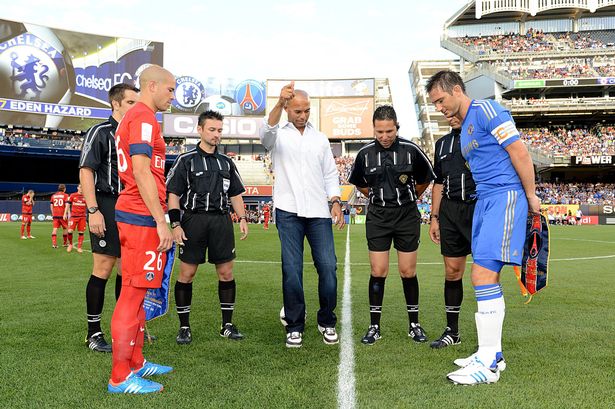
M229 214L229 199L239 216L241 240L248 235L248 223L241 194L245 188L233 161L218 153L223 116L215 111L199 115L196 149L181 154L167 176L169 218L173 238L181 246L179 278L175 282L175 304L179 315L178 344L192 342L190 305L192 280L199 264L216 265L218 296L222 311L220 335L240 340L243 335L232 323L235 308L235 236ZM184 211L180 216L180 209Z

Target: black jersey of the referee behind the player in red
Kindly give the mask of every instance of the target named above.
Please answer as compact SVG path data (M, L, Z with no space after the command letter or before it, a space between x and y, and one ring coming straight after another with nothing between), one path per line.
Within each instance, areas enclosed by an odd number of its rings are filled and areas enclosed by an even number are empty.
M96 191L113 195L118 195L122 190L117 173L116 130L117 121L112 116L108 121L88 129L79 159L79 169L90 168L94 171Z

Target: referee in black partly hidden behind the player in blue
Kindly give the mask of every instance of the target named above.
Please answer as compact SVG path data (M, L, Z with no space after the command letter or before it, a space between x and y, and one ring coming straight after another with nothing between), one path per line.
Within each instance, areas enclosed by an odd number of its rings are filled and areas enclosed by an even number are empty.
M429 236L440 245L444 256L444 308L446 328L432 348L444 348L461 342L459 311L463 300L463 272L466 257L472 252L472 217L476 203L476 185L461 154L461 124L447 118L452 131L438 139L434 154L434 182Z

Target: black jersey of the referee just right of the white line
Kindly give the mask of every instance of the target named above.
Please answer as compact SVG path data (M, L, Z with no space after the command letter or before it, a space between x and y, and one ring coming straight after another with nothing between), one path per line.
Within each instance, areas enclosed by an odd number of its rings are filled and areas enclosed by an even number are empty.
M369 203L381 207L400 207L418 199L416 185L435 178L431 162L416 144L397 137L384 148L375 140L357 153L350 183L369 188Z

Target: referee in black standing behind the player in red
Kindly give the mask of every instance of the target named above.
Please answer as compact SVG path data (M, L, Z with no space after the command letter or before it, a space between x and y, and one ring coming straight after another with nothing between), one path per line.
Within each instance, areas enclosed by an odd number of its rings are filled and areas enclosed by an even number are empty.
M117 84L109 90L111 116L85 135L79 159L79 181L88 206L88 224L94 266L85 289L88 319L86 345L93 351L111 352L100 327L105 286L117 260L115 299L120 296L120 238L115 223L115 202L122 189L117 174L115 131L124 114L137 102L139 89Z

